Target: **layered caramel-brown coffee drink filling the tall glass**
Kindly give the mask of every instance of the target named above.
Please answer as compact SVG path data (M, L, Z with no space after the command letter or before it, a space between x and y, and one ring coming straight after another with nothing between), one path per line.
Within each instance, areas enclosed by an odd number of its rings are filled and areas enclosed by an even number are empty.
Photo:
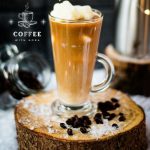
M102 18L66 22L50 17L58 94L66 105L88 100Z

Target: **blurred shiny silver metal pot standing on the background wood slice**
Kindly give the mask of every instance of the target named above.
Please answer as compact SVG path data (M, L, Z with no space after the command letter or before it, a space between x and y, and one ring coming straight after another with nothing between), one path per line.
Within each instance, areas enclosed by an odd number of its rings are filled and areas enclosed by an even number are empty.
M120 0L117 7L115 48L123 55L150 57L150 0Z

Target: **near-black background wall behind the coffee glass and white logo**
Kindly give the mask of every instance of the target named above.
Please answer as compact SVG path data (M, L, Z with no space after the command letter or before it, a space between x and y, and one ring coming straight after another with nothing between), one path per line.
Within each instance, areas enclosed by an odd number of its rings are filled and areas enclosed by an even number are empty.
M115 0L70 0L73 4L91 5L92 8L101 10L104 15L99 52L103 52L109 43L114 42L115 32ZM38 24L30 29L18 27L18 13L25 10L26 3L29 3L29 10L34 12L34 20ZM50 63L53 69L53 57L50 42L50 31L48 13L57 0L0 0L0 46L6 43L16 44L20 51L38 51ZM14 23L9 24L13 19ZM46 23L41 24L45 19ZM41 31L42 38L39 42L15 42L12 33L14 31Z

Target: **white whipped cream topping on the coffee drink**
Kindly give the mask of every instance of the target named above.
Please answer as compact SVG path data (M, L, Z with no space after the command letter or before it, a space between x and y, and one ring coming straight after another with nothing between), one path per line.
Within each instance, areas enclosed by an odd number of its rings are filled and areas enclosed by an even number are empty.
M64 1L54 5L51 15L53 17L66 20L90 20L95 16L95 13L88 5L72 5L69 1Z

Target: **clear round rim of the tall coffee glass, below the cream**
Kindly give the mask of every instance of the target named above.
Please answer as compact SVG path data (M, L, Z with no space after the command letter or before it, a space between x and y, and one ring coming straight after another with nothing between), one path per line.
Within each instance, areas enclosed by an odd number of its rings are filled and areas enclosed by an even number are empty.
M98 18L92 18L92 19L81 19L81 20L69 20L69 19L61 19L55 16L51 15L51 12L49 13L49 17L52 19L56 19L58 21L62 21L62 23L86 23L86 22L91 22L91 21L98 21L98 20L103 20L103 14L101 11L99 11L98 9L92 9L94 13L98 14Z

